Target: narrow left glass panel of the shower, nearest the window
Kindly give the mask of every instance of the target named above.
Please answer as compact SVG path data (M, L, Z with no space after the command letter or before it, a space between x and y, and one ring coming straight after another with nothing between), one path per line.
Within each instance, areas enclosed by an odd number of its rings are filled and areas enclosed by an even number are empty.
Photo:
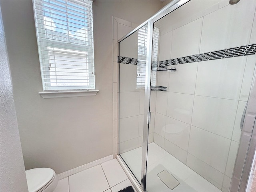
M119 44L119 154L139 182L142 171L147 35L148 25L145 25Z

